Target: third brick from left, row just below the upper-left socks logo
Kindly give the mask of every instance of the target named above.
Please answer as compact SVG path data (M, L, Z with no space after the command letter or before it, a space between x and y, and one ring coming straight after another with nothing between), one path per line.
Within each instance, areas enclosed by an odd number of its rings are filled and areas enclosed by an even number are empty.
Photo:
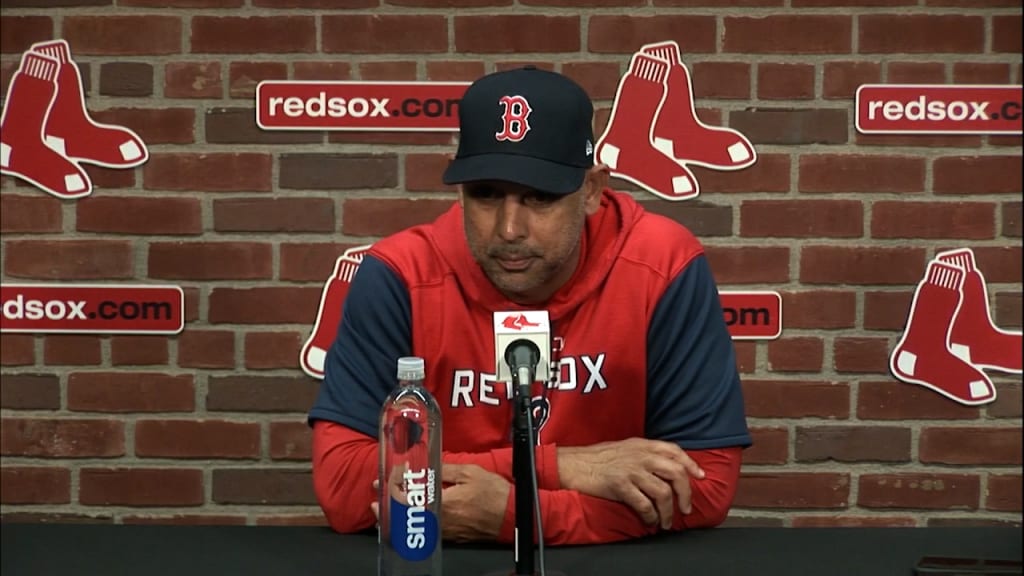
M217 232L335 232L330 198L231 198L213 201ZM269 262L267 262L269 264Z

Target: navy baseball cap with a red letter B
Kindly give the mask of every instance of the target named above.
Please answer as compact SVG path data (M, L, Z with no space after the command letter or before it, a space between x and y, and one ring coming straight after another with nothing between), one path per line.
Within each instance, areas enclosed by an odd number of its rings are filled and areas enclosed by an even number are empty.
M561 74L526 67L488 74L459 102L459 151L446 184L504 180L570 194L594 166L594 105Z

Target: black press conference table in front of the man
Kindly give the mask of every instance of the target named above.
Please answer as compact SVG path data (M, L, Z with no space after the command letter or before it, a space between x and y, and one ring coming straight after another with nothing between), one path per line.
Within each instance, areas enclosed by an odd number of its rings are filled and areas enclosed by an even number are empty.
M3 576L375 576L374 534L314 527L3 524ZM547 549L564 576L910 576L923 556L1021 560L1020 528L716 528ZM447 545L444 574L507 574L503 546Z

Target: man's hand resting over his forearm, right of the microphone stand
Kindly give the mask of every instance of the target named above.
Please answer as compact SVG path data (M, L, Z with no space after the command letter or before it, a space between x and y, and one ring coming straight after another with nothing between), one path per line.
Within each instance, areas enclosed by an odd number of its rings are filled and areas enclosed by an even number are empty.
M558 476L563 488L623 502L648 524L672 528L673 494L679 509L690 512L690 477L703 470L671 442L631 438L593 446L559 447Z

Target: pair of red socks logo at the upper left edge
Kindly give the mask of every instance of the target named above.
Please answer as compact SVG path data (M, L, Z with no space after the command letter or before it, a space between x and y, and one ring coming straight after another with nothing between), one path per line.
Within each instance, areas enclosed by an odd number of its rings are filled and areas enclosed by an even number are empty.
M82 77L65 40L38 42L23 55L0 126L0 173L57 198L92 192L80 164L131 168L150 159L135 132L89 116Z

